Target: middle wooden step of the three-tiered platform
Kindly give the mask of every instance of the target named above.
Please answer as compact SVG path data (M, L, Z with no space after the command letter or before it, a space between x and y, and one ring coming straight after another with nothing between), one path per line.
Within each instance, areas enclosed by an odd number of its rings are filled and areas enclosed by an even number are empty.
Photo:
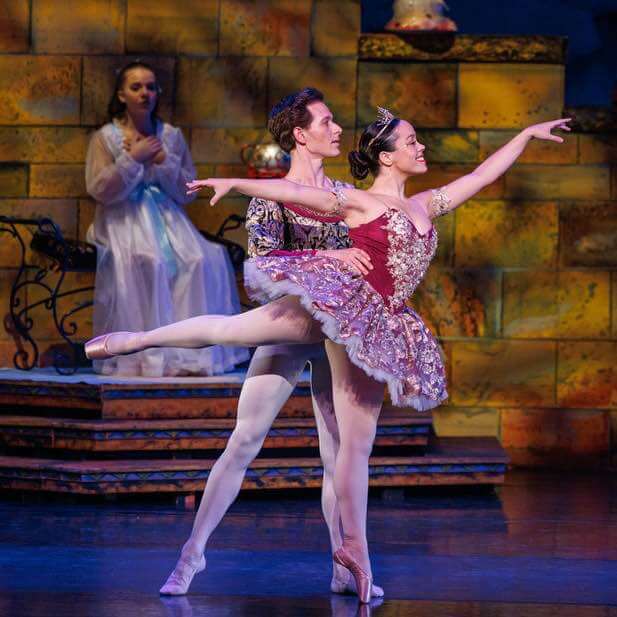
M218 450L225 447L234 425L232 418L76 420L0 415L0 446L83 452ZM425 447L431 425L430 413L386 407L375 445ZM264 443L264 448L306 447L318 447L313 417L277 419Z

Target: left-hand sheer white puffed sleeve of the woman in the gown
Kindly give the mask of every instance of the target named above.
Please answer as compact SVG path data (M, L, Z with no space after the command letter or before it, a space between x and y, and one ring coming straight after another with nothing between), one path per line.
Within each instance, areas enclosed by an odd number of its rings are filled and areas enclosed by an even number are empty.
M101 131L90 140L86 155L86 190L101 204L113 204L126 199L142 181L144 166L122 152L114 160Z

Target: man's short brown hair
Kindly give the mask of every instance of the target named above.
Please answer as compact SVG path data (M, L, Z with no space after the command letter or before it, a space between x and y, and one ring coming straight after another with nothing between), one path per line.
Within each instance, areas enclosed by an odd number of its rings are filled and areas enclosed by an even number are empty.
M283 97L270 112L268 129L276 142L291 152L296 147L293 130L310 126L313 116L307 107L315 101L323 101L323 94L316 88L303 88L299 92Z

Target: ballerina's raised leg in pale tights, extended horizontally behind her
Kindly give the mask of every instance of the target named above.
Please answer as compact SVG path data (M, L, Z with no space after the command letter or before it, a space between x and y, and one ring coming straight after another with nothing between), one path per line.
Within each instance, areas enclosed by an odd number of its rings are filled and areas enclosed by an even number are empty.
M147 332L117 333L105 346L117 354L149 347L255 346L323 339L321 325L302 308L298 298L285 296L238 315L200 315Z

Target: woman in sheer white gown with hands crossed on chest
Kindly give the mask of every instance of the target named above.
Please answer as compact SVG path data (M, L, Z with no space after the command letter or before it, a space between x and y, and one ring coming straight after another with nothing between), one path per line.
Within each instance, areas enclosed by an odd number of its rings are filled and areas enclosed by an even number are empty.
M157 116L159 94L150 66L125 66L109 122L88 148L86 186L97 202L88 230L98 251L95 334L240 311L226 249L205 240L183 209L195 168L182 131ZM149 349L93 366L105 375L213 375L246 359L238 347Z

